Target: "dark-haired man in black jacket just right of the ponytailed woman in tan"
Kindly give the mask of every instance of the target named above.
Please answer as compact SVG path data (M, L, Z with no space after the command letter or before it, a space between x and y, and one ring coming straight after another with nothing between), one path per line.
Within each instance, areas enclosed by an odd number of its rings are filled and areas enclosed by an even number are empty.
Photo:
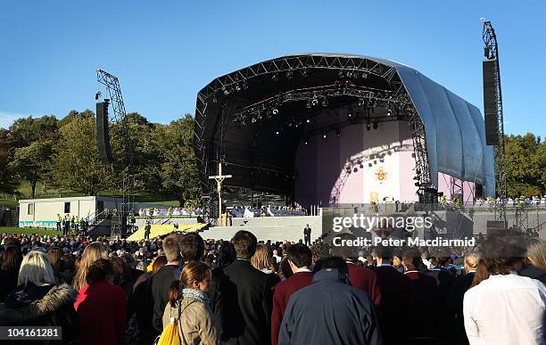
M236 260L223 268L226 281L221 287L224 310L222 340L231 344L271 342L273 282L269 275L252 267L249 261L256 251L257 242L252 233L237 232L231 240Z

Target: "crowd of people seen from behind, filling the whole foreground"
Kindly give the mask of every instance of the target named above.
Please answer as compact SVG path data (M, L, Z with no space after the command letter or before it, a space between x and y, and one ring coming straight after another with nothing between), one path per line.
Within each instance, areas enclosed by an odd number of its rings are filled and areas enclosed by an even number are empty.
M491 236L458 272L426 248L352 257L248 231L2 234L0 325L60 326L76 344L543 344L544 243L513 241Z

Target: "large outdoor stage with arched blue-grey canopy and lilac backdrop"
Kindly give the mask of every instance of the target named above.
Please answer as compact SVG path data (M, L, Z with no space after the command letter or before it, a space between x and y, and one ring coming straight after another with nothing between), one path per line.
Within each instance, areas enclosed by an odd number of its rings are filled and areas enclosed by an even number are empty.
M289 204L473 201L494 195L476 106L408 66L352 54L289 55L214 79L197 95L194 147L211 218L216 183Z

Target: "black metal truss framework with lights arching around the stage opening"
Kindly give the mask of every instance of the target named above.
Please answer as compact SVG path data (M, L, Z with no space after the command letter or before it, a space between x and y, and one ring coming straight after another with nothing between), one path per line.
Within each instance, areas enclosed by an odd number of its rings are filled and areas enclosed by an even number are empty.
M252 80L260 78L268 80L269 78L276 81L279 76L290 79L296 74L307 77L325 71L332 73L331 70L337 71L338 78L336 78L335 83L330 82L315 87L292 89L274 96L267 96L267 98L264 96L264 99L253 102L251 105L245 105L243 109L227 111L229 104L235 102L239 94L244 94L249 87L253 87L250 85ZM370 77L384 80L386 82L385 89L375 89L357 84L359 79L368 79ZM241 97L244 98L244 96ZM212 195L215 187L209 182L208 177L216 172L216 164L213 163L218 163L222 159L222 155L219 153L222 151L222 140L219 138L221 137L220 133L226 130L226 126L240 127L261 121L261 119L269 119L277 115L277 107L285 103L299 102L302 103L304 108L304 103L321 103L323 100L329 102L336 97L353 99L353 102L359 103L359 106L364 110L363 117L354 120L348 119L345 121L347 123L336 124L335 127L337 128L350 125L355 120L360 122L406 120L409 122L415 148L416 174L418 175L416 186L418 186L419 201L435 203L437 201L437 191L432 184L430 175L425 126L401 82L398 71L392 66L365 57L335 55L296 55L256 63L214 79L197 94L194 151L203 185L203 193ZM218 115L218 110L212 111L213 115L211 116L215 117L215 124L213 128L207 128L207 122L211 126L212 121L207 120L211 113L211 107L215 109L221 107L222 111L221 115ZM373 113L376 107L389 108L392 112L389 112L388 116L371 117L370 113ZM307 106L307 108L310 107ZM217 119L219 116L222 119ZM304 119L291 121L294 126L300 124L305 126ZM315 129L315 131L328 129L332 128L319 128ZM216 144L213 144L213 142ZM219 148L216 147L218 143L220 143ZM233 165L232 162L229 162L229 164ZM255 168L252 167L252 164L250 165L248 168ZM275 170L275 167L272 167L272 170ZM279 173L287 172L279 171ZM253 174L256 174L256 172L253 172ZM211 218L218 216L213 214L214 209L216 208L211 206Z

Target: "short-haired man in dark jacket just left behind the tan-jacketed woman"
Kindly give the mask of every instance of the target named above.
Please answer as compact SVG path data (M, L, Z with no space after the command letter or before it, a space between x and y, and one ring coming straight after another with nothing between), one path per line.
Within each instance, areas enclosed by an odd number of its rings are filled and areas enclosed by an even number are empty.
M163 252L167 257L167 265L161 267L153 275L153 328L158 333L163 330L163 312L169 301L170 284L180 278L181 256L179 250L178 234L170 234L163 240Z

